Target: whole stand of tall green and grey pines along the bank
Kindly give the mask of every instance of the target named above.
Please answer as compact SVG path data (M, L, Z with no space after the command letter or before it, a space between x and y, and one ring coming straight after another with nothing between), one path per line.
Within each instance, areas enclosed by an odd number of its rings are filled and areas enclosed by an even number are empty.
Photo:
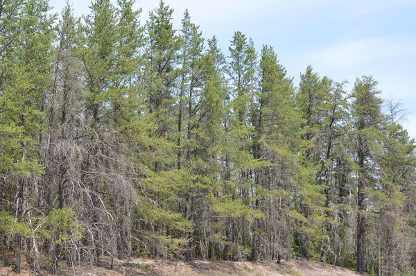
M372 76L305 64L294 83L239 31L220 49L188 11L178 29L163 1L143 16L0 0L0 255L17 273L136 256L416 275L416 144Z

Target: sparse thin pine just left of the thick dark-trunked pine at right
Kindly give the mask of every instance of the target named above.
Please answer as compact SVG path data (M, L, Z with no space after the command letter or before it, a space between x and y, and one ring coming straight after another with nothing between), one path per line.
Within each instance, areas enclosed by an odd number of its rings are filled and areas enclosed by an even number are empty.
M331 92L327 103L324 105L325 115L321 126L320 144L320 169L318 169L318 181L324 185L325 195L325 221L324 241L321 246L322 261L335 261L342 259L336 252L343 248L346 237L343 236L343 229L347 227L342 223L339 213L347 216L343 207L343 197L340 191L347 186L346 179L343 179L345 164L351 163L348 156L347 137L349 135L349 114L348 95L345 92L345 83L331 85ZM343 181L337 181L338 179ZM338 182L338 183L337 183ZM328 256L329 255L329 256Z

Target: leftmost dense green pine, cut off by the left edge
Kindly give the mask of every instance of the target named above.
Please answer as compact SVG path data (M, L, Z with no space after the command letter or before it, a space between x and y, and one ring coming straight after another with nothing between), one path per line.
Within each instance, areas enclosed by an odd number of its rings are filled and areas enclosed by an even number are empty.
M3 1L1 6L4 22L1 29L5 32L1 40L6 44L1 46L0 125L5 130L4 138L11 141L6 146L1 169L3 175L10 175L4 185L15 194L14 202L6 209L15 214L17 221L26 223L34 215L33 203L42 201L44 189L36 185L43 169L38 144L42 139L44 100L51 79L53 17L48 15L47 1L10 4ZM37 189L41 193L36 193ZM16 232L17 273L25 242L23 233ZM39 253L34 252L34 256L33 266L38 270Z

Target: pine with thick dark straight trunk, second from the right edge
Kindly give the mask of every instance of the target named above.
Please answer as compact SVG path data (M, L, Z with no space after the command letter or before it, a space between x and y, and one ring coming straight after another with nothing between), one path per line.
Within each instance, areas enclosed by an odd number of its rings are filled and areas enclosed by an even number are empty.
M381 115L380 91L377 82L371 76L363 76L354 84L354 102L352 114L355 126L355 147L357 165L357 218L356 218L356 259L357 271L363 273L367 264L365 245L369 227L370 192L376 189L379 180L375 177L378 171L379 137L383 117Z

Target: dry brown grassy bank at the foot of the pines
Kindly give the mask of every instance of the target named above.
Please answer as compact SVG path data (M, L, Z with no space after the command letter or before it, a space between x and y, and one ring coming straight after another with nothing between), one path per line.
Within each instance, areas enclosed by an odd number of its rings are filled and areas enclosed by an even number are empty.
M0 252L3 255L3 252ZM0 258L0 275L17 275L12 270L8 256L7 264L3 256ZM282 261L276 264L272 261L261 261L252 263L250 261L184 261L153 260L153 259L130 259L114 261L114 268L110 268L110 259L102 258L100 266L65 266L61 263L60 275L82 275L82 276L121 276L121 275L244 275L244 276L352 276L356 272L337 266L318 264L306 260ZM21 275L35 275L30 266L24 261L22 263ZM49 275L46 270L40 275Z

